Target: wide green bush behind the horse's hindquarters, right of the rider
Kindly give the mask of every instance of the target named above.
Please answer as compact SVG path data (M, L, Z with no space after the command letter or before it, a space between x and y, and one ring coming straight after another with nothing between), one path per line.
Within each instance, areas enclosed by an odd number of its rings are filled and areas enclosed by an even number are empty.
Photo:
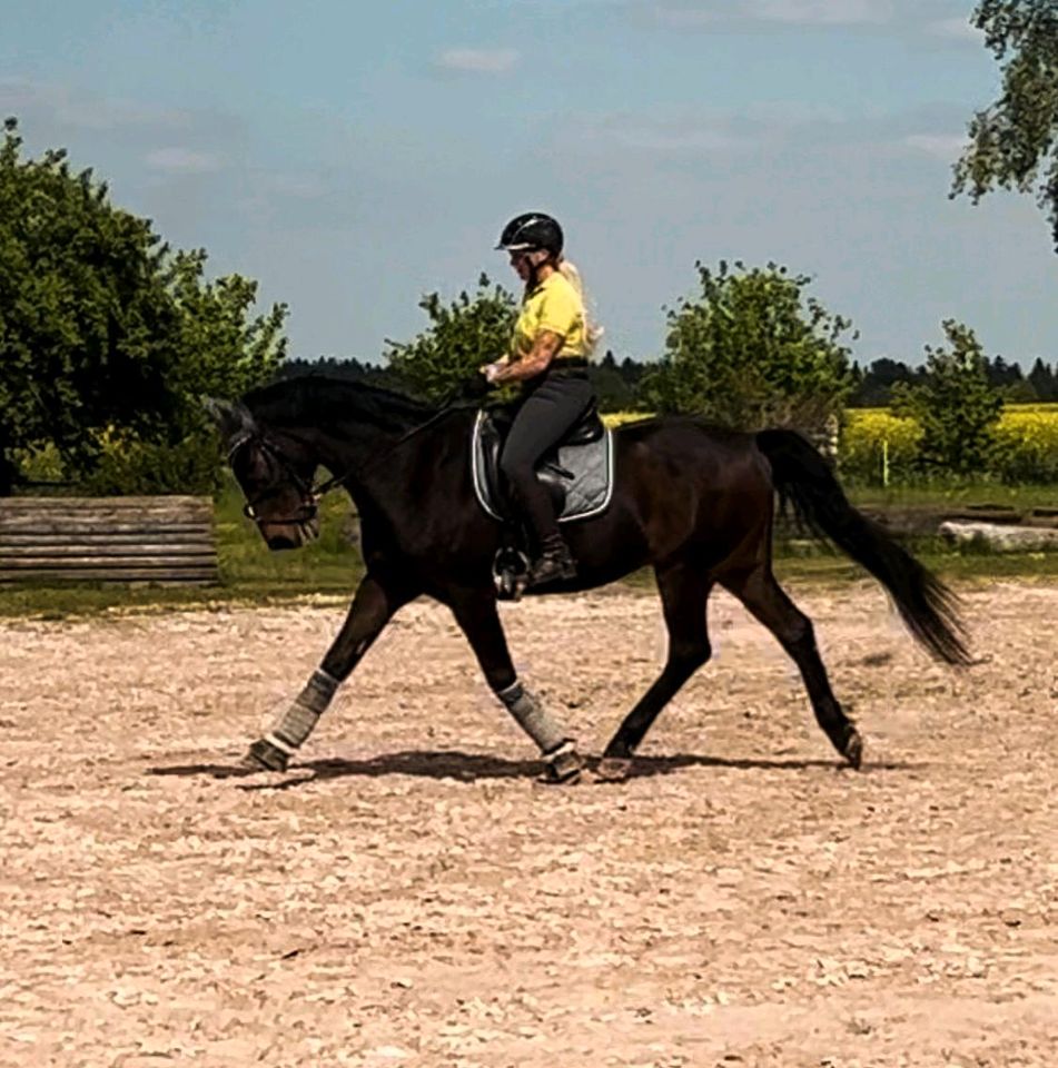
M695 265L700 291L669 309L665 352L644 376L641 397L723 426L822 433L853 384L841 344L851 324L804 297L804 276L775 264L733 266Z

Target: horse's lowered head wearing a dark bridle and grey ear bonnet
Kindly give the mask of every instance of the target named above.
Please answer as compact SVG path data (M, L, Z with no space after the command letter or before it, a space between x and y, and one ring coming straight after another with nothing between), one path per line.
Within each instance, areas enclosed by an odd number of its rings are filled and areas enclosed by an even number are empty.
M207 399L246 496L244 514L271 550L298 548L319 535L313 476L317 462L304 442L258 425L246 405Z

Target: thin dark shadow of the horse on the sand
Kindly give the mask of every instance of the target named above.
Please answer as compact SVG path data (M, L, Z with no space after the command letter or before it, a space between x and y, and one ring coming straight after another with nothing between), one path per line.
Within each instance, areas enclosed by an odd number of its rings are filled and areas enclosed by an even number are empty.
M599 764L597 756L585 760L591 773ZM919 764L906 762L879 762L866 767L868 772L911 770ZM629 779L650 779L655 775L670 775L686 768L731 768L739 771L807 771L819 768L830 771L849 770L841 761L708 756L694 753L676 753L671 756L636 756ZM459 750L404 750L396 753L382 753L362 760L345 758L323 758L320 760L299 761L291 764L279 779L268 774L267 781L260 781L258 774L248 772L235 764L174 764L149 768L151 775L209 775L214 779L253 778L254 782L240 783L243 790L289 790L310 782L324 782L329 779L365 778L377 779L383 775L416 775L423 779L452 779L457 782L477 782L490 779L532 779L540 773L538 760L504 760L482 753L464 753ZM589 781L592 781L591 779ZM621 780L626 781L626 780ZM597 781L599 785L609 785Z

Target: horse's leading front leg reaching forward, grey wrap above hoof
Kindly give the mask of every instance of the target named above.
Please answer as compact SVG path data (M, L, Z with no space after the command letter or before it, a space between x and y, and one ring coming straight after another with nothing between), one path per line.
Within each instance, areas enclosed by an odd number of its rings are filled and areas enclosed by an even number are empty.
M305 744L338 686L359 663L372 642L415 594L367 575L356 591L345 623L319 668L313 672L294 703L283 712L243 758L251 771L286 771L290 758Z

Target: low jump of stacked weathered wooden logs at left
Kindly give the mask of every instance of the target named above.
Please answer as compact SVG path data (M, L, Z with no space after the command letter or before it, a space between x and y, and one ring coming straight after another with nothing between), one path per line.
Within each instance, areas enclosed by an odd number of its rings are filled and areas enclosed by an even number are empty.
M0 584L218 578L209 497L0 497Z

